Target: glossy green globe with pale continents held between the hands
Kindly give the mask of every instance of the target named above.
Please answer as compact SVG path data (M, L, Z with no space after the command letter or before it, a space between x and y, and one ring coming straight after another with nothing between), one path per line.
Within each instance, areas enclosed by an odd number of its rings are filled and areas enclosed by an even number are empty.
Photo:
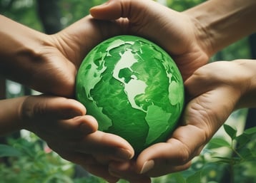
M137 36L99 43L77 73L77 100L136 153L164 142L177 126L184 105L182 76L172 58Z

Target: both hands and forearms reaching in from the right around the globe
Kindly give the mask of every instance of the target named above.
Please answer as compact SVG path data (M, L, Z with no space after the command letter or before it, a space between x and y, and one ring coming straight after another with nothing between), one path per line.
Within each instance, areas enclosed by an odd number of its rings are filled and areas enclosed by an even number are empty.
M172 137L147 148L137 160L111 162L110 174L137 183L150 182L145 175L187 169L233 110L256 105L253 61L207 64L221 48L256 31L255 7L253 0L211 0L177 12L154 1L111 0L91 9L95 19L119 23L125 33L162 46L176 61L187 91L181 125Z

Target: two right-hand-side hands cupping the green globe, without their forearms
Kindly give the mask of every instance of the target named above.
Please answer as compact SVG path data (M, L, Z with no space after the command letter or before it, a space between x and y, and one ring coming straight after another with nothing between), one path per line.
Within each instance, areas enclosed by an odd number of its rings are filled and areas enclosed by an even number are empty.
M254 72L237 61L205 66L213 52L209 35L189 11L179 13L150 0L109 0L90 12L95 19L118 23L123 33L162 46L177 63L189 94L182 125L167 142L148 147L137 160L111 162L109 172L136 183L187 169L230 113L240 103L245 105L242 93Z

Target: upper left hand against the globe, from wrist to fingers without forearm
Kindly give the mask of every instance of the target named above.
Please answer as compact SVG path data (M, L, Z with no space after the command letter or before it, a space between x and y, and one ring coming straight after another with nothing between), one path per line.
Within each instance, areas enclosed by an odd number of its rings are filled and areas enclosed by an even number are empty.
M84 57L97 43L116 36L119 32L119 26L115 23L97 21L91 16L86 16L63 31L49 36L51 50L48 49L41 55L50 64L55 65L52 67L54 72L48 72L52 74L49 75L51 86L48 87L51 88L51 93L74 95L75 77ZM46 72L47 70L42 73ZM47 87L43 84L41 88Z

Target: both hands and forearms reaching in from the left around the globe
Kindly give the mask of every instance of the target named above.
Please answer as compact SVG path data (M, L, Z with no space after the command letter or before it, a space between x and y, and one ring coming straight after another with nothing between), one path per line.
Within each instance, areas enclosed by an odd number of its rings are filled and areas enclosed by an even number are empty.
M1 76L45 93L0 100L0 135L21 129L34 132L64 159L116 182L107 171L108 162L127 161L134 150L121 137L97 131L94 117L70 98L84 56L100 41L119 34L119 26L86 16L46 35L5 16L0 15L0 22Z

